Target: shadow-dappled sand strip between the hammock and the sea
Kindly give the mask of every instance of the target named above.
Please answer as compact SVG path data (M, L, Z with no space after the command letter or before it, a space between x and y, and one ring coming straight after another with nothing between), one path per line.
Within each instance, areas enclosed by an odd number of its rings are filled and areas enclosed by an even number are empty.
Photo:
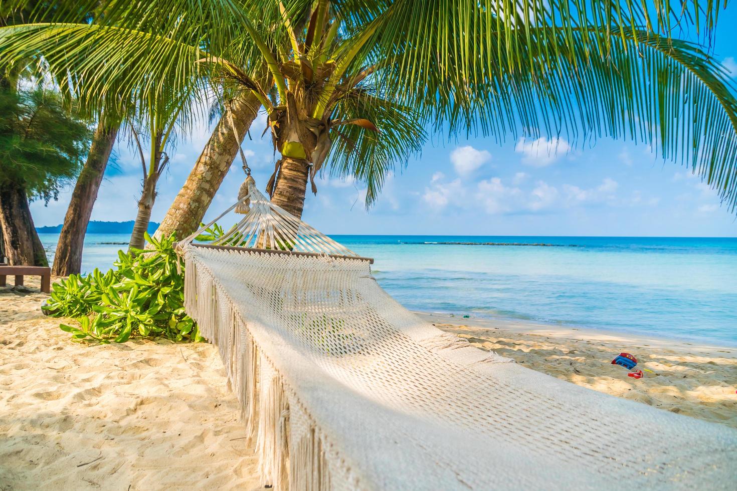
M625 333L420 314L482 350L525 367L666 411L737 428L737 349ZM638 359L634 370L612 365L621 352ZM634 371L633 370L633 371Z

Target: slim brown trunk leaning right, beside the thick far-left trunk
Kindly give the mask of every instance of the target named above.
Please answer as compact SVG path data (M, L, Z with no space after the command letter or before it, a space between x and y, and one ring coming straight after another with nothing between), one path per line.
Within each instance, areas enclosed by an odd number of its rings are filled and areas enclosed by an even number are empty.
M69 208L64 216L64 225L56 245L52 275L69 276L72 273L78 274L82 269L82 249L87 225L118 129L118 124L99 124L94 132L87 161L71 193Z

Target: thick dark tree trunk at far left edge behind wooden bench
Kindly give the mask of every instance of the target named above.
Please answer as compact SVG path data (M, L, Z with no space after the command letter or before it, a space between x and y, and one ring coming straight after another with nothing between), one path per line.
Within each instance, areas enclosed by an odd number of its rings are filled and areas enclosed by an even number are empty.
M38 238L26 191L21 186L0 188L0 227L5 255L11 266L49 266Z

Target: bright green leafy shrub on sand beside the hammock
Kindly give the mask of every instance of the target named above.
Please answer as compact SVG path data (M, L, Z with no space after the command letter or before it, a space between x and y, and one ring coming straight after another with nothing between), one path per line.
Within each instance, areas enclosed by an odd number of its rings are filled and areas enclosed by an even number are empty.
M55 283L44 310L54 317L74 317L80 327L62 324L74 340L126 342L132 337L202 341L197 325L184 312L184 264L173 238L146 234L152 250L118 251L116 269L105 275L71 275Z

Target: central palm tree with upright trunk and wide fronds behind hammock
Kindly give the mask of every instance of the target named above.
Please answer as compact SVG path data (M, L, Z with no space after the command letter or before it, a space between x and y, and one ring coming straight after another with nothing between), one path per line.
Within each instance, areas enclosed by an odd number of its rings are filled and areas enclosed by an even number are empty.
M644 141L736 202L733 87L705 48L671 35L694 27L705 37L716 2L102 3L94 24L0 29L0 54L41 51L83 73L86 93L148 93L200 77L223 97L251 94L280 155L268 191L296 216L325 164L363 181L370 204L395 163L419 151L428 124L451 135ZM254 75L264 66L273 83Z

